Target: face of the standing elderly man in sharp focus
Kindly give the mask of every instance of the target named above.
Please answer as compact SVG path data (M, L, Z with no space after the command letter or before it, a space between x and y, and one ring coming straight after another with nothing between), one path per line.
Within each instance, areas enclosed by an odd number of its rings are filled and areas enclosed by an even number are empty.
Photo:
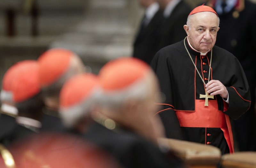
M218 17L213 12L199 12L191 16L191 27L184 26L191 46L199 52L206 53L210 50L219 31Z

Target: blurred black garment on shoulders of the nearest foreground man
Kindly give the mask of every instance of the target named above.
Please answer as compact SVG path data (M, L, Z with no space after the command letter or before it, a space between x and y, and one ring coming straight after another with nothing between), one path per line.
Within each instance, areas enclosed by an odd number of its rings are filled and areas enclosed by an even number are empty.
M168 159L153 143L125 129L115 132L93 123L85 137L111 153L126 168L183 167L180 159L170 152Z

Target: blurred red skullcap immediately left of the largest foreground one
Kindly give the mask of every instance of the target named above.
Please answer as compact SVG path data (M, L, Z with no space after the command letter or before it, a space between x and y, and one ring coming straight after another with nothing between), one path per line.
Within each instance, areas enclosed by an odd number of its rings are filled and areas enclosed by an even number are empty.
M98 84L98 77L93 74L79 74L69 79L60 91L60 106L70 107L90 98Z

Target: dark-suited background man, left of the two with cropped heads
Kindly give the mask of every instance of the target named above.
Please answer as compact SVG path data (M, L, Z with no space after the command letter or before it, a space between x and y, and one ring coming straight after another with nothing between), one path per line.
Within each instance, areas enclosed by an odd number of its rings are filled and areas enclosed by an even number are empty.
M164 17L155 0L139 0L139 2L146 11L133 43L133 57L150 64L152 58L159 50L160 27Z

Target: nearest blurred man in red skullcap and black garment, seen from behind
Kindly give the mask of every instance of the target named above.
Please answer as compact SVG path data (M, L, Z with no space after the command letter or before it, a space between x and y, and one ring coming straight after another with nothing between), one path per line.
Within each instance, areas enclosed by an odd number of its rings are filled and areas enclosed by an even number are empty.
M86 138L127 168L182 167L172 152L167 156L158 148L164 131L154 116L159 88L150 67L134 58L113 60L102 67L99 80L102 91Z

